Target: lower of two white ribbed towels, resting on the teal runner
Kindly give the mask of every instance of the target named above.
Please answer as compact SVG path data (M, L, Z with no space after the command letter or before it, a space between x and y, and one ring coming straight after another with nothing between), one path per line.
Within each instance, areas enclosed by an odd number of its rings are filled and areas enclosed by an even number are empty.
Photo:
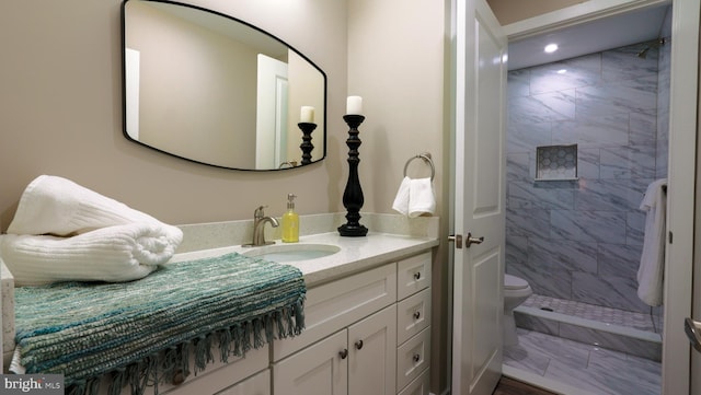
M136 280L165 264L176 246L163 228L150 223L102 228L72 237L0 236L0 254L18 286Z

